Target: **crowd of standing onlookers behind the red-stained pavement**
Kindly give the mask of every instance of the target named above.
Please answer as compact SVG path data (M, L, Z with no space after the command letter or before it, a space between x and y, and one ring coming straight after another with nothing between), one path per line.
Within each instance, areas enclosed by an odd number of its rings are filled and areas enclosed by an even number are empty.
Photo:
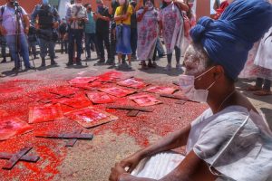
M181 56L192 42L189 30L196 24L193 1L190 0L163 0L160 8L155 6L154 0L111 0L109 7L104 5L103 0L96 0L96 10L91 4L83 5L82 0L71 0L63 19L60 19L57 10L49 5L48 0L42 0L40 5L36 5L30 15L26 14L23 7L16 5L15 0L6 1L6 5L1 6L0 44L2 63L7 62L7 46L11 61L15 62L13 71L22 69L21 60L26 70L34 69L29 56L38 59L37 46L40 47L42 60L40 66L46 66L46 55L49 55L51 65L56 65L56 43L61 44L62 53L68 54L67 66L82 65L82 54L85 51L86 61L91 60L92 55L92 59L94 56L98 59L97 64L108 64L117 69L131 69L133 60L140 62L141 69L156 68L158 57L167 56L164 69L170 71L175 52L175 67L180 71ZM213 8L217 14L213 18L219 19L231 2L225 0L220 3L216 0ZM267 34L268 37L271 34ZM256 49L264 46L259 44ZM246 64L245 69L248 66L252 69L246 77L257 78L256 85L248 87L248 90L256 90L257 95L270 95L272 67L271 63L267 63L270 52L260 53L267 57L257 56L254 64L258 68L252 68L253 63ZM257 51L254 58L256 54Z

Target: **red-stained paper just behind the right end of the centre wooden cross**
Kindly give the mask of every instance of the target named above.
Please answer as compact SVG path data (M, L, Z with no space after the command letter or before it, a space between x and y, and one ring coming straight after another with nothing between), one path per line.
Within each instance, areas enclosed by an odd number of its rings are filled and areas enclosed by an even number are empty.
M162 103L160 100L148 94L133 95L130 96L130 100L134 100L140 106L153 106Z

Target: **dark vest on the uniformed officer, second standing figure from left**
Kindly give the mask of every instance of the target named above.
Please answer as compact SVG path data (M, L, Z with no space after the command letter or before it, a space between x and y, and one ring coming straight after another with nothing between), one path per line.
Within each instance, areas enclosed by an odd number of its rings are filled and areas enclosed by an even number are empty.
M41 29L50 29L53 27L54 10L51 5L40 5L38 16Z

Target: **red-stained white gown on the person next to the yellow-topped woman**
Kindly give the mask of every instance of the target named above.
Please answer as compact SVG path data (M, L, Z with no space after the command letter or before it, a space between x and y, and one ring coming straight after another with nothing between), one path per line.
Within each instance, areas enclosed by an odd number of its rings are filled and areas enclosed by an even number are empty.
M137 11L137 17L143 13L143 9ZM159 12L152 8L148 10L138 22L137 57L141 61L152 58L157 38L159 35Z

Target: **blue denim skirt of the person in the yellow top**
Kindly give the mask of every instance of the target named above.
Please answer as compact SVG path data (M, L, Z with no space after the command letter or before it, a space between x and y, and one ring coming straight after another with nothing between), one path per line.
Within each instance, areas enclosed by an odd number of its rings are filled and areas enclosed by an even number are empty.
M131 26L123 24L116 27L116 52L131 54Z

